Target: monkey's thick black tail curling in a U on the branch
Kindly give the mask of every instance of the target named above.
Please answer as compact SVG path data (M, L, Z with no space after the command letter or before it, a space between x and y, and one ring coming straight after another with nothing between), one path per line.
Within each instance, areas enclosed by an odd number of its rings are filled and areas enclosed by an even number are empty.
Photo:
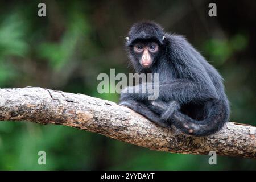
M220 130L229 117L229 108L225 101L214 100L210 102L210 111L207 118L196 121L180 111L174 111L171 124L186 134L206 136Z

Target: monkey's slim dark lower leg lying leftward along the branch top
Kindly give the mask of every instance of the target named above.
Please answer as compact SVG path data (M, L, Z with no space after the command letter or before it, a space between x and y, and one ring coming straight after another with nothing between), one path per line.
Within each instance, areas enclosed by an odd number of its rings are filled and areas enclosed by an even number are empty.
M129 107L130 109L143 115L144 117L147 117L148 119L150 119L150 121L156 123L159 126L162 126L162 127L168 126L168 123L166 121L161 120L158 114L151 111L147 107L147 105L143 104L142 102L135 101L135 100L126 100L126 101L121 101L119 104Z

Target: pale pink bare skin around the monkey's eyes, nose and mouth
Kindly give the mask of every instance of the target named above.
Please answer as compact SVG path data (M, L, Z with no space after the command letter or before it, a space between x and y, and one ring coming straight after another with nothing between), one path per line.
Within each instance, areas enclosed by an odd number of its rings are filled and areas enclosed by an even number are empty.
M150 52L158 52L159 47L158 44L153 42L148 46L144 46L143 44L135 44L133 48L136 53L142 53L140 63L143 67L148 68L153 63L152 57L150 56Z

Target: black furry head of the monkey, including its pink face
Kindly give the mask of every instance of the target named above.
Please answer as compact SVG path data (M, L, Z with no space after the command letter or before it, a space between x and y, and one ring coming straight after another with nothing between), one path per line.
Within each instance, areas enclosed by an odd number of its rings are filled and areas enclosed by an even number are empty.
M164 50L163 28L154 22L136 23L126 37L126 47L135 71L150 69Z

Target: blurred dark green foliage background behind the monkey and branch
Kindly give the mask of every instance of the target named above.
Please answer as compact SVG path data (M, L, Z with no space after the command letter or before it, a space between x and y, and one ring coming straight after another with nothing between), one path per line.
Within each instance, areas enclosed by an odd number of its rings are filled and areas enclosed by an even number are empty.
M45 2L47 17L39 18ZM225 78L231 120L255 125L256 2L1 1L0 87L40 86L118 102L98 94L97 75L129 73L123 46L138 20L184 35ZM39 165L38 151L47 165ZM66 126L0 123L0 169L256 169L255 160L151 151Z

